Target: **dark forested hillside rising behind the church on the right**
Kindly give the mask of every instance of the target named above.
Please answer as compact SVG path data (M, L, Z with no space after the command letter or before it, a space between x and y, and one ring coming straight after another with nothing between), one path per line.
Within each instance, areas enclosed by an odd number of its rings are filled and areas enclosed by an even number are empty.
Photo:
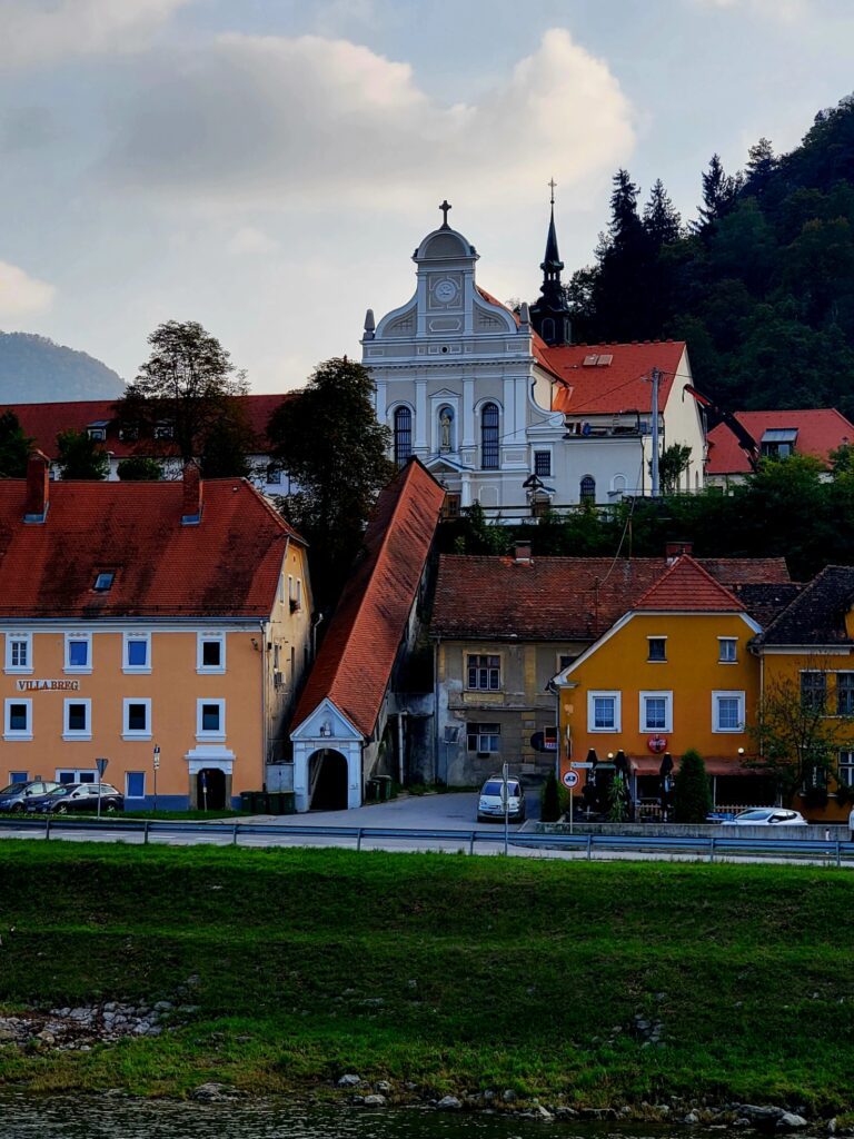
M761 139L734 174L715 155L689 223L660 181L639 192L615 175L596 263L567 286L573 338L685 339L725 408L854 415L854 96L790 154Z

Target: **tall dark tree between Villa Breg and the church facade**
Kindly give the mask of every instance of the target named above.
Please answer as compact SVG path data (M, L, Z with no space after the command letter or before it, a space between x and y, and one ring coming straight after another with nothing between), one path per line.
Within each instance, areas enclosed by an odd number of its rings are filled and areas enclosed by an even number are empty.
M377 421L373 391L360 363L327 360L276 409L268 427L272 457L297 486L281 499L281 509L309 540L321 607L335 600L377 494L394 473L391 433Z

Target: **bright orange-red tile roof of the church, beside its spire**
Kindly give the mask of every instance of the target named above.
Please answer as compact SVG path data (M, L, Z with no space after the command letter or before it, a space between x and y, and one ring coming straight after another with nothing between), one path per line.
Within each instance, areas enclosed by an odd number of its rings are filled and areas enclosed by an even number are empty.
M648 413L652 388L648 382L658 368L658 410L664 411L674 380L690 383L680 372L684 341L644 341L642 344L567 344L545 349L549 369L563 382L555 388L553 410L565 415ZM584 364L584 360L611 357L607 364Z

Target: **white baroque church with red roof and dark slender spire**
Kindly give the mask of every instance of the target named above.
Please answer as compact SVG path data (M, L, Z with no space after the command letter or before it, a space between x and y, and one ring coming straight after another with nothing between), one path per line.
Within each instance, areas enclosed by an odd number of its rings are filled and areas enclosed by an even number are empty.
M447 487L449 514L479 502L516 521L649 494L656 369L659 449L689 448L675 489L699 490L705 428L685 345L570 343L553 199L541 297L518 313L478 286L477 251L440 208L412 257L414 295L364 322L362 362L395 462L417 456Z

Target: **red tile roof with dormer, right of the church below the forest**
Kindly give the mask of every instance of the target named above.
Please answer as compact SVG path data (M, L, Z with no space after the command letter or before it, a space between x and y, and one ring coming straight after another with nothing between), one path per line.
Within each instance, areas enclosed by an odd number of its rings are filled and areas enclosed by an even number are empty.
M848 423L836 408L814 408L805 411L737 411L736 418L753 435L758 446L766 431L797 428L795 450L812 454L830 466L830 452L843 443L854 443L854 424ZM707 475L749 474L750 464L738 445L738 440L726 424L718 424L708 433Z

